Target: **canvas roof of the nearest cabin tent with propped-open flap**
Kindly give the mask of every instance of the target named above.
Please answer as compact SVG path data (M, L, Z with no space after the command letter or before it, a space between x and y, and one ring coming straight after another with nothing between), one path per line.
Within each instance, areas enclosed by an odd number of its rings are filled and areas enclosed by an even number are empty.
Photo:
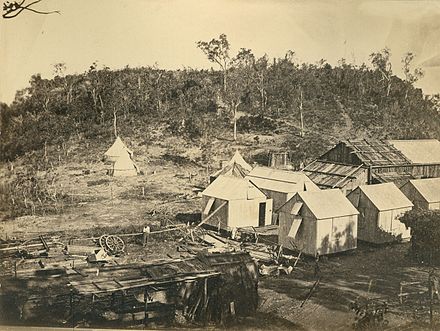
M317 219L359 214L339 189L305 191L297 194Z

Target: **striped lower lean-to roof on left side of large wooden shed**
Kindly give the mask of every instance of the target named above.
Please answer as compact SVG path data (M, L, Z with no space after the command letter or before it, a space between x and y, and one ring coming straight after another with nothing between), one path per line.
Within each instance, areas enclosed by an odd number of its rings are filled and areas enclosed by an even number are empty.
M318 186L343 188L350 180L366 171L365 167L316 160L303 172Z

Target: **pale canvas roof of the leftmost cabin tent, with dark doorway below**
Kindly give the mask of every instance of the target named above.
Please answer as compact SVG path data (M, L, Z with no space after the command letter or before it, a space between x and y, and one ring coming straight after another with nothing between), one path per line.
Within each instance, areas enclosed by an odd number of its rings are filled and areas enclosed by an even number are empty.
M228 201L266 197L251 181L230 176L219 176L202 192L202 195Z

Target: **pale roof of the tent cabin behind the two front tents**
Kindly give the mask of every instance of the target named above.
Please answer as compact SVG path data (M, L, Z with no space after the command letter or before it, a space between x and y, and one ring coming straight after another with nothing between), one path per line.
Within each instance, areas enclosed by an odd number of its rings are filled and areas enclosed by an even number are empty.
M255 167L246 178L252 180L252 182L261 189L275 192L294 193L319 190L302 172L269 167Z

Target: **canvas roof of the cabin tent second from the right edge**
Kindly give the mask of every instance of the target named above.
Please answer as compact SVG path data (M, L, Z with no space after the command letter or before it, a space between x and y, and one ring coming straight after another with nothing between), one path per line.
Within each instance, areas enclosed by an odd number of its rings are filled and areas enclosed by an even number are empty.
M361 185L359 189L380 211L412 207L412 202L394 183Z

